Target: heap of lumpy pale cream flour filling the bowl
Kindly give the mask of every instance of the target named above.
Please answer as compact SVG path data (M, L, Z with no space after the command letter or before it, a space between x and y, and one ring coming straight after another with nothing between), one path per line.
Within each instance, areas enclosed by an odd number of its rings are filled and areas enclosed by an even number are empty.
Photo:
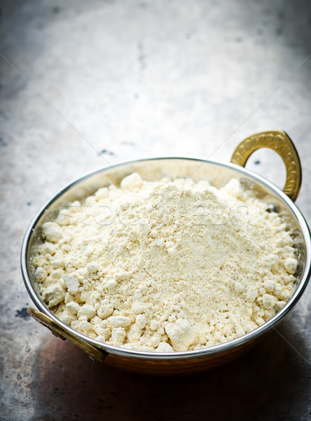
M137 173L62 209L33 259L41 295L90 338L151 352L233 340L284 307L295 287L293 240L238 180Z

